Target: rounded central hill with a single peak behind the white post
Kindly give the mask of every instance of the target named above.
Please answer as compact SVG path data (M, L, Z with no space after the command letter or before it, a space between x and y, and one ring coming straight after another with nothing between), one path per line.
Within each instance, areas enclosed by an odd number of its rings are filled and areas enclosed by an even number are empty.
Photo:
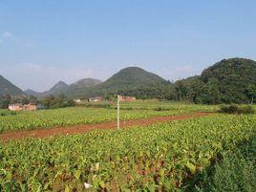
M106 81L66 94L71 97L111 96L121 94L140 98L160 96L161 88L167 83L159 75L149 73L139 67L128 67L112 75Z

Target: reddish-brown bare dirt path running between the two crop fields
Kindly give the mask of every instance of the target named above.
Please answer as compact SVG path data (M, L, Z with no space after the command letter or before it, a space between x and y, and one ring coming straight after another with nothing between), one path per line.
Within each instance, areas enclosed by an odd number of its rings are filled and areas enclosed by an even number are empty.
M204 113L204 112L195 112L191 114L184 115L176 115L169 117L150 117L150 118L141 118L141 119L133 119L126 120L120 122L120 128L130 127L134 125L146 126L158 122L167 122L171 120L182 120L193 117L205 117L210 116L212 113ZM79 125L73 127L58 127L52 129L35 129L31 131L17 131L17 132L9 132L0 134L0 140L7 141L10 139L24 139L24 138L47 138L55 135L72 135L72 134L81 134L88 132L93 129L114 129L117 127L117 122L102 122L96 124L87 124L87 125Z

